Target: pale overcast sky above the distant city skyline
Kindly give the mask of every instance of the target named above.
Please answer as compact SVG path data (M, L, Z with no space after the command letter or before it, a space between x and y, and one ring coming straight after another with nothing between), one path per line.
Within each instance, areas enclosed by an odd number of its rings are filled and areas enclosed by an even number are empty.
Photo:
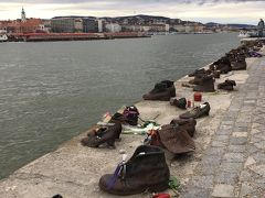
M56 15L162 15L200 22L256 24L265 18L265 0L0 0L0 20L50 19Z

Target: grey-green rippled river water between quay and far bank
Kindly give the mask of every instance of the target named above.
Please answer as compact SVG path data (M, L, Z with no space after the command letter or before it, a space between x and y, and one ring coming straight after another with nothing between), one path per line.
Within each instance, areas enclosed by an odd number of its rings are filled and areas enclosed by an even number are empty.
M0 179L239 44L234 33L0 43Z

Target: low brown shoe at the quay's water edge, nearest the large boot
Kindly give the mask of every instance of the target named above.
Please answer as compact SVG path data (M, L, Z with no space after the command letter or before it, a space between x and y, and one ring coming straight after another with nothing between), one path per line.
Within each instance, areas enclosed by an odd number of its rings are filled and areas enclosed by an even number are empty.
M87 133L87 138L81 140L82 145L88 147L98 147L106 143L108 146L115 147L115 140L119 140L121 133L120 123L109 123L113 125L99 127Z

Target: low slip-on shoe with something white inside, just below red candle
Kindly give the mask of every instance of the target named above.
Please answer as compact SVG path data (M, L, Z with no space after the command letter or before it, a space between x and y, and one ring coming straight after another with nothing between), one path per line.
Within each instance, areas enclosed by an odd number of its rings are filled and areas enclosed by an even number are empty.
M209 102L204 102L199 107L193 108L191 111L180 114L179 118L180 119L190 119L190 118L198 119L201 117L209 116L210 110L211 108Z

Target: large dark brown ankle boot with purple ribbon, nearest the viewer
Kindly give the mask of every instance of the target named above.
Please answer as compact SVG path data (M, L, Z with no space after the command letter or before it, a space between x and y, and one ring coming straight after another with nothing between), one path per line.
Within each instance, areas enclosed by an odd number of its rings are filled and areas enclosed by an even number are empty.
M100 177L102 190L128 196L144 191L160 193L168 188L169 167L161 148L150 145L138 146L126 163L120 163L114 174Z

